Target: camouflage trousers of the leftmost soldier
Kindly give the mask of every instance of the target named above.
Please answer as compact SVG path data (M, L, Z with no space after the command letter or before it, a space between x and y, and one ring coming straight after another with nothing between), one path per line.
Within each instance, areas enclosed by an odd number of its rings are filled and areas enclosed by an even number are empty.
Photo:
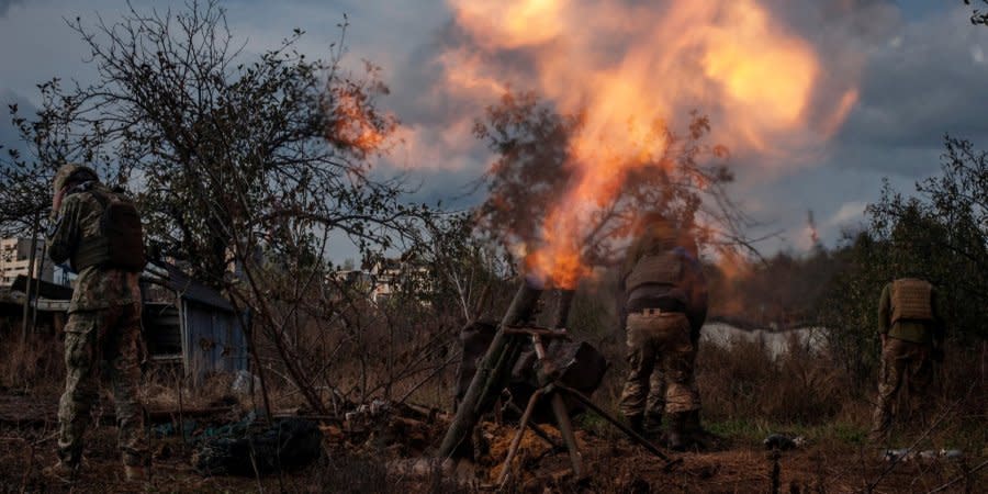
M137 397L139 336L139 304L69 314L65 326L65 393L58 403L58 457L63 463L78 465L81 460L89 412L99 400L100 378L105 377L116 405L117 444L124 464L145 464L144 407Z

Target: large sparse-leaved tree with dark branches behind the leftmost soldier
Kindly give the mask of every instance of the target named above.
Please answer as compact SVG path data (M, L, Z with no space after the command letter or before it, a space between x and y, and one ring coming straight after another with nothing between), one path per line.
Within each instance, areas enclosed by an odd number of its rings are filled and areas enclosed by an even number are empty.
M176 12L128 7L116 23L67 21L96 82L53 79L40 86L36 115L12 109L31 153L3 158L0 224L22 231L32 213L47 213L60 164L97 168L135 192L153 252L249 310L250 340L270 345L322 411L297 333L344 312L336 295L312 296L333 270L328 237L349 237L370 259L412 245L433 214L405 201L401 177L372 177L370 158L388 150L396 125L375 106L388 92L380 69L343 69L346 21L323 61L296 50L299 30L250 56L215 0Z

